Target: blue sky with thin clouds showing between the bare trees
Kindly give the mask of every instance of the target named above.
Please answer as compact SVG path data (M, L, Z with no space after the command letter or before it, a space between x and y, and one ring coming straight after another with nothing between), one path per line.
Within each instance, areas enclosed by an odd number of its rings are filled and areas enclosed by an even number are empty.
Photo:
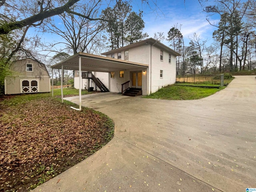
M152 3L156 0L149 0L151 2L150 6L156 8ZM216 30L216 27L211 26L206 20L207 14L203 12L202 6L198 0L157 0L156 4L158 8L156 10L151 10L148 6L141 4L141 0L133 0L132 10L139 12L143 10L143 20L145 22L144 33L146 32L149 37L154 37L155 32L164 32L165 38L167 38L167 33L174 26L174 24L182 25L181 32L184 37L185 45L188 46L189 38L193 37L193 34L199 34L202 40L208 39L208 45L212 43L212 32ZM102 6L102 8L104 8ZM57 19L54 17L54 19ZM218 20L216 20L218 22ZM56 21L57 22L57 21ZM35 35L36 33L30 32L30 35ZM42 41L53 42L61 41L61 38L56 35L44 34ZM165 45L169 46L169 42L164 40ZM41 52L42 54L48 54L46 52ZM52 52L49 56L54 56L56 53Z

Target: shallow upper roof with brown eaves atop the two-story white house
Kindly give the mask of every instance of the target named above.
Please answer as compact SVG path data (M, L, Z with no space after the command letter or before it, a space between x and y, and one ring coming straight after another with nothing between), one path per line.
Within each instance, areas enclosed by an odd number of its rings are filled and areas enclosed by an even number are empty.
M110 51L101 53L101 54L102 55L110 55L110 54L113 54L113 53L116 53L116 52L125 51L125 50L131 49L131 48L135 48L135 47L139 47L139 46L145 45L145 44L154 45L154 46L156 46L156 47L158 47L158 48L160 48L162 50L170 52L171 54L173 54L175 56L181 56L181 54L179 54L178 52L174 51L170 47L160 43L159 41L157 41L157 40L155 40L153 38L148 38L148 39L145 39L145 40L142 40L142 41L139 41L139 42L132 43L130 45L124 46L124 47L120 47L120 48L117 48L117 49L114 49L114 50L110 50Z

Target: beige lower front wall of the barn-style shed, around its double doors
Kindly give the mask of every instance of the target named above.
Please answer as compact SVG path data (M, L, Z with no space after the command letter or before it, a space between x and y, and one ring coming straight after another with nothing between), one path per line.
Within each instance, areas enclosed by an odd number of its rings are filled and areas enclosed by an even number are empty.
M20 80L38 80L38 92L50 92L50 77L6 76L5 94L20 94Z

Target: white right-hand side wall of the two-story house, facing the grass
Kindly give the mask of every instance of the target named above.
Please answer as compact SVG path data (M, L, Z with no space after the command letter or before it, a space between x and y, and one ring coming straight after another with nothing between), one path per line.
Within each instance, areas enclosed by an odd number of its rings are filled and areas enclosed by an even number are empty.
M152 46L151 93L158 91L164 86L174 84L176 81L176 57L172 56L172 63L169 64L169 52L163 51L163 61L161 61L160 48ZM160 70L163 70L163 78L160 78Z

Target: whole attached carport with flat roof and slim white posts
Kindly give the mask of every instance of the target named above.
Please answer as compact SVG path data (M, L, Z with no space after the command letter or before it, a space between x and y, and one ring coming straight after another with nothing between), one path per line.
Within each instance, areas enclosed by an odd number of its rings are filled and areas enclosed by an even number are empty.
M84 52L78 52L73 56L70 56L66 60L55 64L52 69L61 69L61 98L63 103L63 74L64 70L77 70L79 71L79 109L82 107L82 71L95 71L95 72L108 72L109 83L110 83L110 72L114 70L144 70L148 71L147 64L140 64L136 62L130 62L120 59L108 58L105 56L98 56L94 54L88 54ZM148 74L148 72L147 72ZM53 73L52 73L53 79ZM147 78L148 79L148 78ZM52 81L53 87L53 81ZM53 96L53 89L52 89Z

